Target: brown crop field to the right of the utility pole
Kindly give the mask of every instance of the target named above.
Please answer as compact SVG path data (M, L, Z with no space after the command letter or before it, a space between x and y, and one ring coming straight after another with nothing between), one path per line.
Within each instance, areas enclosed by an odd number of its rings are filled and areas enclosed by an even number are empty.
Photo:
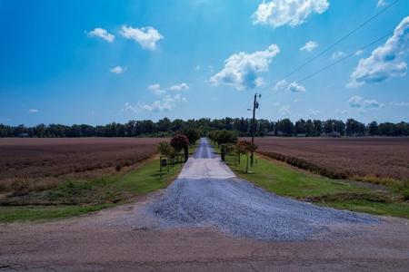
M338 179L409 180L409 138L256 138L258 151Z

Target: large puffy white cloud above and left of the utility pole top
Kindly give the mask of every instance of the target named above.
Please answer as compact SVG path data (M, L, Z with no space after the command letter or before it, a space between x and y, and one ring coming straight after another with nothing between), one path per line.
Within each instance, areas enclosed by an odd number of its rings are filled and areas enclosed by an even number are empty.
M223 70L214 74L210 82L233 86L239 91L259 87L263 83L259 74L268 71L268 65L279 52L278 46L271 44L264 51L234 53L224 61Z

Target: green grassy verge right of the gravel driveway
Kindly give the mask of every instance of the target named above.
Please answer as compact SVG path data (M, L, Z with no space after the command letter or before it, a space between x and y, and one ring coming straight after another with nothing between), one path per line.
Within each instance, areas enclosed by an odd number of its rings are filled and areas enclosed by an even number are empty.
M215 148L216 152L219 152ZM277 160L255 155L256 163L245 173L245 157L237 165L227 156L227 165L244 180L277 195L314 202L335 209L348 209L374 215L409 219L409 203L394 189L368 188L364 182L332 180L285 165Z

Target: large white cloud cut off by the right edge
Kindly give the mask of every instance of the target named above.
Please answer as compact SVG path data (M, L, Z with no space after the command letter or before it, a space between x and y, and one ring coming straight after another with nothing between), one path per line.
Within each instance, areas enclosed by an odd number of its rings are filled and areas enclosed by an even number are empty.
M351 74L348 87L365 83L381 83L390 77L406 74L404 59L409 52L409 16L394 29L394 34L385 44L376 48L366 59L361 59Z

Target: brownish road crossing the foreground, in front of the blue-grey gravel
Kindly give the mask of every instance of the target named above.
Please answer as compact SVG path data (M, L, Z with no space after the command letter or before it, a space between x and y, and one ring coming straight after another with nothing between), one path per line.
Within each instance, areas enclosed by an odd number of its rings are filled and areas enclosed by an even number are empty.
M307 241L232 238L211 228L133 228L134 204L44 224L0 225L0 270L363 270L409 267L409 221L334 226Z

